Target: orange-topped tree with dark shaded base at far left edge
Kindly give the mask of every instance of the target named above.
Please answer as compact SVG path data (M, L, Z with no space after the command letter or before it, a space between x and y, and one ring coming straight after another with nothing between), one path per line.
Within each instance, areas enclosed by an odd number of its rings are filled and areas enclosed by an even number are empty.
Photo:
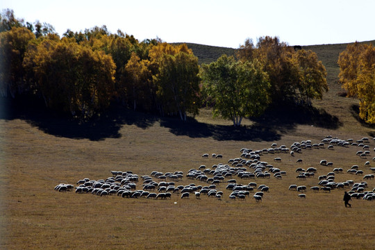
M28 91L22 61L32 40L35 35L24 27L13 27L0 33L0 92L3 97L8 93L15 97L17 93Z

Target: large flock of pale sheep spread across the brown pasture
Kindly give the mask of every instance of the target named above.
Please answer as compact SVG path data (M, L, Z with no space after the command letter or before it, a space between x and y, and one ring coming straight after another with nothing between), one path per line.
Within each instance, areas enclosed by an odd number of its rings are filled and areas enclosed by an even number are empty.
M375 140L375 138L374 138ZM224 199L224 192L219 190L219 186L224 188L225 192L229 192L228 198L230 200L246 200L252 195L256 202L262 201L263 196L270 192L269 186L262 184L258 185L255 180L265 181L267 178L283 179L287 172L278 167L262 161L261 158L265 155L276 155L278 153L285 153L286 157L299 155L307 149L328 149L334 150L335 147L358 147L360 150L356 152L356 156L362 159L371 157L369 151L369 138L362 138L361 140L353 141L340 140L327 136L319 143L313 143L310 140L303 142L294 142L289 148L285 145L278 147L273 143L268 149L260 149L253 151L252 149L240 149L240 157L231 158L228 163L218 163L212 167L200 165L197 169L190 169L186 174L181 171L176 172L158 172L153 171L150 175L138 176L131 171L112 171L111 176L101 180L90 180L90 178L83 178L76 182L76 186L72 184L60 183L54 188L58 192L74 191L77 194L96 194L100 197L108 195L123 197L123 198L141 198L146 199L172 199L179 195L181 199L189 199L190 196L195 199L201 199L202 196L215 198L218 200ZM374 148L375 151L375 148ZM290 155L290 156L288 156ZM203 158L208 158L210 155L204 153ZM212 158L222 159L222 154L213 153ZM282 161L281 157L274 158L276 163ZM375 161L375 157L372 158ZM301 158L297 158L296 164L303 163ZM320 165L333 167L333 163L327 160L320 160ZM305 181L307 178L314 178L317 174L315 167L297 167L297 181ZM331 192L333 189L350 189L348 193L351 197L356 199L365 199L372 201L375 199L375 188L369 189L367 181L374 180L375 167L371 167L371 162L367 160L363 165L353 165L347 169L348 174L363 176L363 181L355 183L352 180L344 182L335 182L336 174L343 173L344 169L335 167L327 174L321 174L317 177L317 185L310 188L313 192ZM365 174L368 172L368 174ZM292 173L288 173L292 174ZM188 185L178 185L178 182L187 178ZM197 183L194 183L197 182ZM246 184L247 183L247 184ZM373 183L374 184L374 183ZM289 190L298 192L298 197L306 198L306 185L292 184Z

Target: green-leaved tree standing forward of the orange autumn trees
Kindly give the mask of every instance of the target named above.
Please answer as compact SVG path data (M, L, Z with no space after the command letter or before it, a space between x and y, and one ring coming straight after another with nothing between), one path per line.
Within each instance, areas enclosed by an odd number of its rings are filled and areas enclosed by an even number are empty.
M203 88L214 99L214 115L231 119L240 126L243 117L262 114L269 103L269 78L258 60L235 61L220 57L202 65Z

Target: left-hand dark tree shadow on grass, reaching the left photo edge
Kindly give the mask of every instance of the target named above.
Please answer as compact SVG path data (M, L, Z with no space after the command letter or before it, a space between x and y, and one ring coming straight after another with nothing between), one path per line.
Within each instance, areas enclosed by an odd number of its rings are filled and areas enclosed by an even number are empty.
M45 108L40 100L31 102L3 98L0 102L0 119L23 119L44 133L71 139L99 141L106 138L121 138L119 130L124 124L148 128L158 120L152 115L139 114L121 106L114 106L106 110L106 115L95 117L88 122L80 122L66 115L54 113L53 110Z

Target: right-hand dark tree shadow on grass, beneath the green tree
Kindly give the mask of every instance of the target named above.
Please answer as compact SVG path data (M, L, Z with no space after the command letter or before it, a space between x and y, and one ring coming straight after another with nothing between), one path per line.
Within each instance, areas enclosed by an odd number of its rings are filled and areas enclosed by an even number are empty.
M251 121L253 125L238 128L203 124L194 119L188 122L162 119L160 124L169 128L169 131L175 135L187 135L190 138L212 137L215 140L254 142L280 140L281 134L295 131L299 124L329 129L337 129L342 126L338 117L327 113L324 109L285 103L268 108L263 115L251 118Z

